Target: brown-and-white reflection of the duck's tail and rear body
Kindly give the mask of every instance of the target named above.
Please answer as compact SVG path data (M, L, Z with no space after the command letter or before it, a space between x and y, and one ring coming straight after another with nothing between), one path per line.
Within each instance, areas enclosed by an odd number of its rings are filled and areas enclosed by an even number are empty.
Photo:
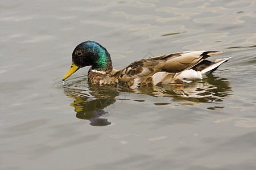
M141 88L141 92L151 96L172 97L172 101L190 101L192 105L218 103L232 92L228 79L213 75L208 76L204 81L199 80L182 86L154 86L151 91L148 88Z

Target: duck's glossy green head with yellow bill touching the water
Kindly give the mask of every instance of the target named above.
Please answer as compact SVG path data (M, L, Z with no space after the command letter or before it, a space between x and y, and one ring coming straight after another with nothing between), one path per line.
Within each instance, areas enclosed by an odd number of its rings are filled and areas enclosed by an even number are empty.
M77 45L72 53L72 65L64 75L63 81L85 66L92 66L90 70L111 71L112 61L108 51L94 41L85 41Z

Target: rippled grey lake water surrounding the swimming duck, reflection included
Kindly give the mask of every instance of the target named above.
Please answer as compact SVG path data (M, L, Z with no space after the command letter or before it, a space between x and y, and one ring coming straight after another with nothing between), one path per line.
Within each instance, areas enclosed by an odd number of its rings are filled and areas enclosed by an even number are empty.
M0 169L256 169L256 2L1 1ZM182 86L62 84L93 40L113 66L225 50Z

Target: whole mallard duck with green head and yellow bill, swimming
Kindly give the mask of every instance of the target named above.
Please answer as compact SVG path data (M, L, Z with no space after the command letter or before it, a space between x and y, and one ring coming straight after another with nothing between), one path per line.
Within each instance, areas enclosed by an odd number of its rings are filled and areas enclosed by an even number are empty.
M192 82L212 73L229 58L206 60L222 51L188 51L165 54L131 63L122 70L113 69L108 51L95 41L77 45L72 53L72 65L63 77L63 82L77 70L92 66L88 71L91 84L119 84L132 89L152 85Z

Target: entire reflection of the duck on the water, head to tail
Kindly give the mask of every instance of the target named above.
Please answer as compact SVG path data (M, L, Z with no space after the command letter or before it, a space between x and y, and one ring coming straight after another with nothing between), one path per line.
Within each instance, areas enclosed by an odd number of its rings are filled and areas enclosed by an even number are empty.
M87 90L88 86L89 90ZM75 108L76 117L89 120L90 125L93 126L111 124L105 117L114 112L116 101L145 101L134 100L133 97L129 99L131 92L154 97L170 97L172 101L181 102L180 104L195 105L200 103L222 103L222 99L232 92L232 87L230 87L227 79L210 75L204 81L185 83L182 86L145 86L136 91L127 87L92 86L90 84L82 86L81 80L64 88L65 95L75 99L70 105ZM127 93L129 93L129 96L127 96ZM167 103L155 104L163 105Z

